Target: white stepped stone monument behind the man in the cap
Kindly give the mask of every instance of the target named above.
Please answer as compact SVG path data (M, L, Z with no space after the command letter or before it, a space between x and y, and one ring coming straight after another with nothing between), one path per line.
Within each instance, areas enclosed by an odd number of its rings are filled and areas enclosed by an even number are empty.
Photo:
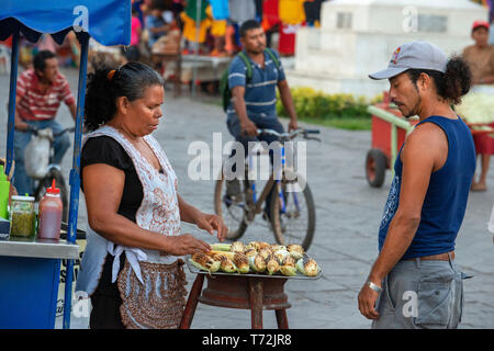
M333 0L323 3L321 27L296 33L291 87L373 98L389 89L368 73L388 66L403 43L424 39L447 55L473 44L471 25L487 10L469 0Z

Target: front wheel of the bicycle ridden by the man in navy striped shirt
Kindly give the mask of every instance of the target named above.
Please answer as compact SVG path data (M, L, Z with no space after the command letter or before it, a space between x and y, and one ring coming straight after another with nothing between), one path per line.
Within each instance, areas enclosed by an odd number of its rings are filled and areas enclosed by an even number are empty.
M299 244L308 250L315 231L315 206L308 184L304 184L301 176L296 180L283 179L278 191L271 194L271 226L274 238L280 245ZM280 199L283 194L284 208Z

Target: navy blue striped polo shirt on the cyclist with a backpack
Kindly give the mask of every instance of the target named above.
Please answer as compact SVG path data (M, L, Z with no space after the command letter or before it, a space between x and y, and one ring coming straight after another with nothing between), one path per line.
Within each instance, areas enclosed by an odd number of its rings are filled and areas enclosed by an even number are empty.
M265 68L261 68L258 64L250 61L252 68L252 77L247 82L247 67L243 59L236 56L228 69L228 88L245 87L245 104L247 109L247 115L272 117L277 116L277 87L278 82L287 79L284 76L283 67L281 66L280 56L277 52L272 50L278 58L280 69L277 68L277 64L271 59L268 53L265 54ZM232 103L229 103L226 111L228 118L236 118L237 114Z

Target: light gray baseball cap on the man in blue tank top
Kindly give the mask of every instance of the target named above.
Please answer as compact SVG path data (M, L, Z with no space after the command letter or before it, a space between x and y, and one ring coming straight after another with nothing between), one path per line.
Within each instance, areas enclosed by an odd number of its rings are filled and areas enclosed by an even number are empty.
M386 69L369 75L371 79L389 79L407 69L431 69L446 71L448 57L436 45L428 42L412 42L394 50Z

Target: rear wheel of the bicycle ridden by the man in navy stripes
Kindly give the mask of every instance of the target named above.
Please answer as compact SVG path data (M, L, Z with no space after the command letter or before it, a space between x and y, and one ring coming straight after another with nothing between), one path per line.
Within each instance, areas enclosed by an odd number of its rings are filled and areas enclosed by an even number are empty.
M236 201L226 195L226 180L223 171L221 179L216 180L214 186L214 212L222 217L228 227L226 238L231 240L238 239L247 229L247 223L245 222L245 181L240 181L240 184L242 192Z

